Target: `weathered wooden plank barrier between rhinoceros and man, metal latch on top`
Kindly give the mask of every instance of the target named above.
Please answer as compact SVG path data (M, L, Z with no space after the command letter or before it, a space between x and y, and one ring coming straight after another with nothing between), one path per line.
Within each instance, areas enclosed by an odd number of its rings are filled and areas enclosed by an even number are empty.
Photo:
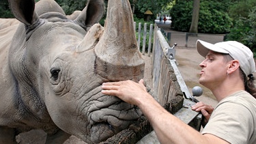
M158 102L175 117L200 130L202 115L190 108L195 103L186 98L190 96L190 92L176 66L175 49L171 49L157 25L154 30L152 61L153 89ZM137 144L149 142L159 143L154 131L144 136Z

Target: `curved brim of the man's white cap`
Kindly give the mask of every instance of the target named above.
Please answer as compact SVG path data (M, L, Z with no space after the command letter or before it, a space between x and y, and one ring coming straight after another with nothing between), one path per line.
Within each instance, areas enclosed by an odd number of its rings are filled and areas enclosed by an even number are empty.
M197 40L196 46L197 46L197 52L203 57L206 57L206 55L208 54L208 52L210 50L217 52L217 53L225 53L225 54L229 53L229 52L225 51L225 49L220 48L220 47L218 47L214 44L211 44L209 42L204 42L203 40Z

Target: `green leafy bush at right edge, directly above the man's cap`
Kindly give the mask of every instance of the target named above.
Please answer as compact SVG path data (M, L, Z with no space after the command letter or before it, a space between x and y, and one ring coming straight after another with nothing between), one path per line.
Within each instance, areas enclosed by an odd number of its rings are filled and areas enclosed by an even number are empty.
M239 1L229 8L233 18L233 27L227 34L226 40L242 42L256 52L256 1Z

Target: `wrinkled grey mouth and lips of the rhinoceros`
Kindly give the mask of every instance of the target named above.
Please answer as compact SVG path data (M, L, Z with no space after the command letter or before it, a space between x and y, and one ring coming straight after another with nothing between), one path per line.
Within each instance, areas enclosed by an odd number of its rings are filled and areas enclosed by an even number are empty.
M113 105L117 106L116 104ZM113 109L113 105L107 109L93 112L91 116L94 119L94 123L91 125L91 142L100 143L105 141L109 137L128 128L130 124L133 124L134 121L141 117L141 111L137 106L122 102L118 104L119 109Z

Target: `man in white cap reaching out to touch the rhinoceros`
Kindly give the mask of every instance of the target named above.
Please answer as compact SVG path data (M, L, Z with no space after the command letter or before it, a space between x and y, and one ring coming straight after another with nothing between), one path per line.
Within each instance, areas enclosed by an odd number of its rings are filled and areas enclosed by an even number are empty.
M201 102L193 106L209 120L202 133L165 111L146 92L143 80L103 83L102 93L139 106L160 143L256 143L253 53L234 41L210 44L198 40L197 51L205 57L199 65L199 83L208 87L218 100L214 111Z

